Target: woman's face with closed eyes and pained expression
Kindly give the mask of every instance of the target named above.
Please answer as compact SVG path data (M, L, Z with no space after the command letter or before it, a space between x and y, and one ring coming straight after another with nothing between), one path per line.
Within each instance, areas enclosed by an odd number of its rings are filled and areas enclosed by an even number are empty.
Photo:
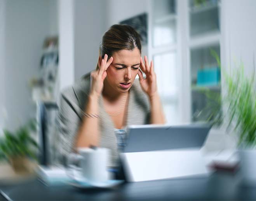
M106 70L106 81L120 93L128 91L138 74L141 54L138 48L120 50L113 54L113 62Z

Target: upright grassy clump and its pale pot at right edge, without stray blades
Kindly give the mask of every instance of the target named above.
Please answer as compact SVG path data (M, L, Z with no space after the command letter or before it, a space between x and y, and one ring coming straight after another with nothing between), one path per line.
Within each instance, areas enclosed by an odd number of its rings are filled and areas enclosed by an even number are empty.
M245 182L256 184L256 90L254 73L244 75L244 67L226 76L229 124L235 122L239 134L240 169Z

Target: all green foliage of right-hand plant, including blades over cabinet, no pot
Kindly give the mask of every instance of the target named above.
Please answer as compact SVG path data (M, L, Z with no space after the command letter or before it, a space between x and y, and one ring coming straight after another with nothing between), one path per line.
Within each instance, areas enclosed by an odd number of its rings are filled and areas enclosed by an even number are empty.
M215 57L218 65L221 67L218 54L211 50L212 56ZM255 69L255 66L254 66ZM221 96L214 95L211 91L206 91L205 95L210 100L215 100L217 107L208 114L207 121L212 125L219 126L223 119L227 117L227 129L234 123L233 131L237 131L239 135L238 145L242 147L256 146L256 88L254 72L250 77L244 75L244 65L241 63L238 69L228 74L222 70L224 75L225 92ZM221 106L227 106L227 111L221 115L223 111ZM201 111L203 113L205 109ZM214 117L214 118L212 118Z

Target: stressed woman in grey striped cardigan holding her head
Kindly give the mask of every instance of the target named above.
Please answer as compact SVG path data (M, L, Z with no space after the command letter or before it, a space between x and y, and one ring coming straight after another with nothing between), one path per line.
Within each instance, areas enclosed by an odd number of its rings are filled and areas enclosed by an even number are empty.
M110 167L118 167L118 144L127 125L164 124L153 62L141 58L139 34L115 24L103 35L96 70L61 93L59 129L62 155L79 147L111 149ZM139 69L140 67L140 69ZM143 77L142 72L146 74ZM138 74L139 80L135 80Z

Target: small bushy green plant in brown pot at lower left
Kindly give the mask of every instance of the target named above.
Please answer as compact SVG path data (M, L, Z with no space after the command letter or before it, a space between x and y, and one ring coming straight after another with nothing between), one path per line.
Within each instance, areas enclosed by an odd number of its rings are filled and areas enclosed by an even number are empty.
M14 133L3 130L4 136L0 139L0 157L9 161L16 172L30 172L30 159L37 160L35 153L38 145L31 137L31 133L35 130L35 120L30 120Z

